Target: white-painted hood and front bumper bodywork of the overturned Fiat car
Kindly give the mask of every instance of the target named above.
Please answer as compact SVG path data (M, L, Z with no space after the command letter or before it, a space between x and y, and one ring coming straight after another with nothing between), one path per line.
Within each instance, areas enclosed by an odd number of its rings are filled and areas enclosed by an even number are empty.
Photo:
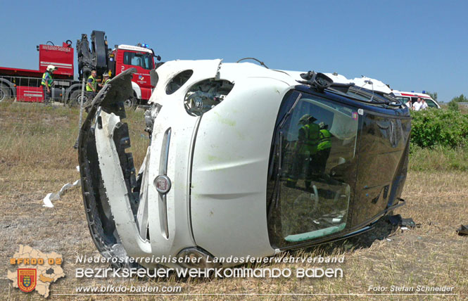
M185 70L193 70L193 75L177 91L167 94L167 84ZM191 247L203 248L214 257L265 257L279 252L270 245L267 231L266 175L279 106L285 94L298 84L301 72L217 59L170 61L157 73L158 83L148 103L160 109L141 167L144 180L137 223L112 140L119 117L101 112L102 129L96 127L95 133L103 182L127 254L177 256ZM346 81L345 77L332 76ZM208 112L189 115L184 98L194 84L205 79L224 79L234 88ZM362 80L372 80L375 90L381 88L374 79ZM168 132L170 143L165 158ZM165 175L172 181L172 188L164 201L154 181L163 174L161 160L165 159ZM242 223L239 216L243 217Z

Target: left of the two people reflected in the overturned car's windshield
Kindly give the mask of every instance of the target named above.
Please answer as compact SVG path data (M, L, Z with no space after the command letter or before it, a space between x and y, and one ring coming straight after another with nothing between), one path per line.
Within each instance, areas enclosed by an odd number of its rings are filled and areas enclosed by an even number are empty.
M296 155L293 158L292 172L286 179L286 186L295 187L301 172L305 167L305 188L309 189L312 176L317 172L317 146L320 141L320 127L314 123L317 118L309 114L303 115L298 124L302 124L296 141Z

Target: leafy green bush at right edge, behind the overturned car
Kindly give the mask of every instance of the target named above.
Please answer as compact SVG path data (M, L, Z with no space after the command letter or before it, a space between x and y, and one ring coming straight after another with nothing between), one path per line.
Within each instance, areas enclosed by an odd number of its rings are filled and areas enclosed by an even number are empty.
M412 148L468 145L468 115L457 110L429 109L412 111Z

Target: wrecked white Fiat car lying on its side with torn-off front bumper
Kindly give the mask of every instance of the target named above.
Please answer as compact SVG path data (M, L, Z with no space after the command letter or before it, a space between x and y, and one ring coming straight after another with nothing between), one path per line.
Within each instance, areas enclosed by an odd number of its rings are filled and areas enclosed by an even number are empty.
M96 96L80 132L84 206L105 257L198 258L165 263L177 268L271 256L362 233L404 203L410 114L382 91L252 63L164 63L137 173L123 122L132 72Z

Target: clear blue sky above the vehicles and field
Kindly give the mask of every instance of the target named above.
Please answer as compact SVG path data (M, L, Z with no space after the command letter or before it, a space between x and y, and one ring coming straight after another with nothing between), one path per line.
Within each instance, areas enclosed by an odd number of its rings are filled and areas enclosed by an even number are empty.
M164 61L253 56L450 101L468 95L467 12L468 1L1 1L0 66L37 70L36 45L103 30Z

